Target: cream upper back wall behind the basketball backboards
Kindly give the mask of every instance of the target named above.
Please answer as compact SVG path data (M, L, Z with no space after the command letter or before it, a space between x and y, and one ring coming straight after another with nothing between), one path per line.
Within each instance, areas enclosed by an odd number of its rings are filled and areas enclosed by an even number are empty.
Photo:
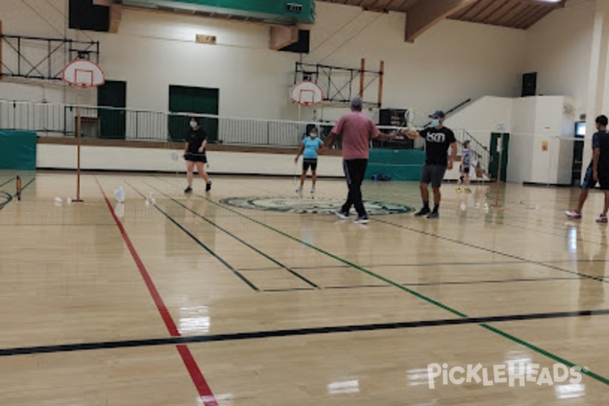
M49 1L67 14L66 1ZM58 37L65 31L70 38L100 40L101 65L108 79L127 81L129 107L167 110L170 84L209 86L220 88L220 114L298 117L287 96L298 55L270 51L267 26L124 10L118 34L85 34L65 30L65 19L47 0L29 0L29 4L55 28L23 2L2 0L4 32ZM357 68L360 59L367 58L368 68L376 69L384 60L385 107L414 108L418 124L429 111L446 110L468 97L518 93L526 43L523 31L447 20L409 44L404 42L406 18L401 13L362 12L359 7L318 2L317 16L312 53L305 61ZM219 44L195 44L196 33L216 35ZM33 87L36 90L24 91L24 85L3 81L0 94L6 99L41 101L40 86ZM50 100L73 101L62 88L49 86L46 93ZM376 100L375 86L366 96ZM303 109L302 118L311 119L312 110Z

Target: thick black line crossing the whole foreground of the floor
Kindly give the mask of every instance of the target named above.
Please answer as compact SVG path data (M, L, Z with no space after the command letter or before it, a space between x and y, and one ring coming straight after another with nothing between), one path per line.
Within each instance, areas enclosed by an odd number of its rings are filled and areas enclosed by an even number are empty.
M55 352L91 351L116 348L149 347L161 345L180 345L211 343L218 341L254 340L278 337L298 337L303 335L339 334L367 331L390 331L420 327L459 326L463 324L504 323L508 321L551 320L557 318L591 317L609 315L609 309L580 310L577 312L530 313L523 315L503 315L490 317L449 318L442 320L406 321L402 323L356 324L348 326L309 327L273 331L241 332L234 334L195 335L191 337L149 338L143 340L98 341L93 343L62 344L35 347L16 347L0 349L0 357L15 355L50 354Z

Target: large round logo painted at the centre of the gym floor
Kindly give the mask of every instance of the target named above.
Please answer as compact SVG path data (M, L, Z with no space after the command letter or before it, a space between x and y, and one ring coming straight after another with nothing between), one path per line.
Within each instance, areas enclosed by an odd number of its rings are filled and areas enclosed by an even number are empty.
M342 200L332 198L301 199L297 197L230 197L221 201L243 209L279 211L284 213L334 214L343 205ZM368 214L404 214L414 211L413 208L382 201L364 201Z

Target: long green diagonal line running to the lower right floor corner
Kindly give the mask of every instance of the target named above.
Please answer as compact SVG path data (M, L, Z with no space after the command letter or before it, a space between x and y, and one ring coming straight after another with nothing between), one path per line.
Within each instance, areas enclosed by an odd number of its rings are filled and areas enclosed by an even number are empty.
M163 180L164 182L166 182L168 184L171 184L171 186L177 187L177 186L175 186L175 184L173 184L173 183L171 183L169 181L166 181L164 179L161 179L161 180ZM240 213L240 212L238 212L236 210L233 210L233 209L231 209L231 208L229 208L229 207L227 207L225 205L222 205L222 203L217 203L216 201L211 200L211 199L209 199L209 198L207 198L205 196L199 195L199 194L195 194L195 195L200 197L200 198L202 198L202 199L204 199L204 200L209 201L210 203L212 203L212 204L214 204L216 206L219 206L220 208L223 208L225 210L233 212L234 214L237 214L240 217L243 217L244 219L250 220L253 223L256 223L256 224L258 224L258 225L260 225L260 226L262 226L264 228L267 228L267 229L269 229L271 231L274 231L275 233L280 234L281 236L284 236L284 237L286 237L286 238L288 238L290 240L294 240L295 242L299 242L299 243L305 245L306 247L311 248L312 250L318 251L319 253L325 254L326 256L329 256L329 257L331 257L333 259L336 259L336 261L342 262L343 264L346 264L346 265L350 265L350 267L353 267L354 269L357 269L359 271L367 273L368 275L373 276L374 278L379 279L379 280L381 280L383 282L386 282L387 284L390 284L390 285L392 285L392 286L394 286L394 287L396 287L398 289L401 289L404 292L408 292L411 295L417 296L418 298L423 299L424 301L426 301L428 303L434 304L435 306L438 306L438 307L440 307L440 308L442 308L444 310L447 310L448 312L451 312L454 315L457 315L457 316L462 317L462 318L469 318L469 316L466 315L465 313L461 313L458 310L452 309L451 307L446 306L445 304L442 304L442 303L440 303L438 301L435 301L432 298L429 298L428 296L425 296L425 295L422 295L421 293L415 292L412 289L408 289L407 287L402 286L402 285L398 284L397 282L393 282L390 279L384 278L381 275L377 275L376 273L374 273L372 271L369 271L369 270L367 270L365 268L360 267L359 265L356 265L356 264L353 264L350 261L347 261L347 259L343 259L343 258L341 258L339 256L336 256L336 255L334 255L332 253L329 253L328 251L322 250L322 248L315 247L314 245L311 245L310 243L308 243L306 241L300 240L297 237L291 236L290 234L284 233L283 231L281 231L279 229L276 229L273 226L267 225L266 223L262 223L259 220L253 219L252 217L249 217L248 215L242 214L242 213ZM572 362L570 362L568 360L565 360L565 359L563 359L561 357L558 357L558 355L554 355L551 352L545 351L544 349L541 349L541 348L539 348L539 347L537 347L535 345L532 345L532 344L528 343L527 341L521 340L520 338L515 337L515 336L513 336L511 334L508 334L508 333L506 333L504 331L496 329L495 327L492 327L492 326L490 326L488 324L479 324L479 326L481 326L484 329L487 329L488 331L491 331L491 332L494 332L494 333L496 333L498 335L501 335L501 337L507 338L510 341L514 341L515 343L518 343L519 345L523 345L526 348L529 348L529 349L531 349L531 350L533 350L535 352L538 352L538 354L544 355L546 357L549 357L552 360L555 360L555 361L561 362L561 363L563 363L565 365L568 365L569 367L571 367L571 366L577 366L577 364L575 364L575 363L572 363ZM585 374L586 376L589 376L589 377L591 377L591 378L593 378L593 379L595 379L595 380L597 380L597 381L599 381L601 383L604 383L605 385L609 385L609 379L607 379L607 378L605 378L603 376L600 376L599 374L593 373L590 370L585 371L585 369L582 369L581 373Z

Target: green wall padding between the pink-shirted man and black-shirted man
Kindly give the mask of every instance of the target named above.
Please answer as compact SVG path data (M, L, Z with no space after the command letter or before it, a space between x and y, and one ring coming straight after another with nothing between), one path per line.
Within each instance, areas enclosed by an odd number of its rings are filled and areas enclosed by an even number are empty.
M420 150L370 150L366 179L372 175L387 175L392 180L418 181L425 152Z

